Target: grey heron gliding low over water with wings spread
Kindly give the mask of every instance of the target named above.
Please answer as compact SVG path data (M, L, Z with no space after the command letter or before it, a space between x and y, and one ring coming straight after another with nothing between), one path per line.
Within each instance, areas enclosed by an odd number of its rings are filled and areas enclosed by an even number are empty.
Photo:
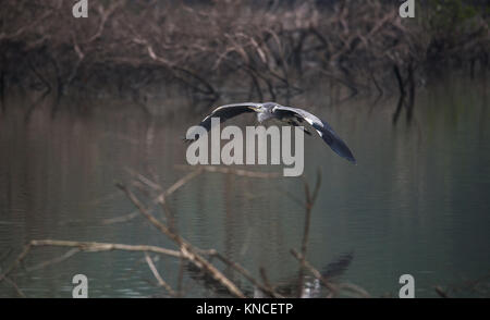
M284 107L278 104L275 102L243 102L243 103L232 103L225 104L216 108L208 116L206 116L201 122L200 126L206 131L211 130L211 119L219 118L220 123L234 118L236 115L243 113L255 112L257 114L257 121L259 123L264 123L269 120L278 120L282 123L286 123L293 126L299 126L301 123L306 121L318 135L330 146L330 148L341 156L342 158L347 159L351 162L356 163L356 159L354 158L352 151L348 149L347 145L339 137L339 135L333 131L333 128L326 122L316 116L315 114L309 113L299 108ZM311 135L311 133L304 128L304 132L307 135ZM194 136L195 139L199 138L198 134L191 135ZM186 139L188 141L188 139Z

